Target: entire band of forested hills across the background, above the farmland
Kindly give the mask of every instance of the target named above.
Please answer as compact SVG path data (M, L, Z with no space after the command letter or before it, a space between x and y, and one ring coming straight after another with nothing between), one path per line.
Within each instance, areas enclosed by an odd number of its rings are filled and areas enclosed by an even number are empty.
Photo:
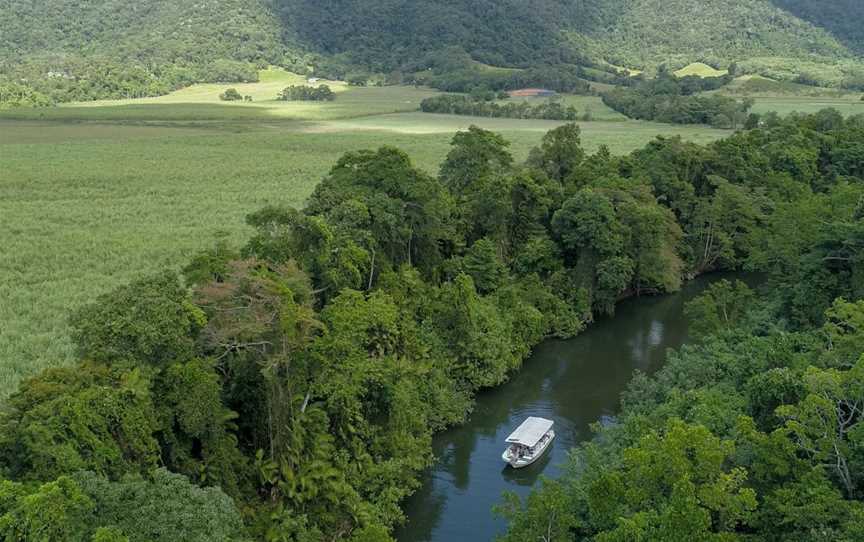
M485 65L864 81L860 0L0 0L0 77L55 100L241 81L255 67L413 72ZM440 55L437 60L440 68ZM460 69L464 69L464 63ZM335 72L334 72L335 73Z

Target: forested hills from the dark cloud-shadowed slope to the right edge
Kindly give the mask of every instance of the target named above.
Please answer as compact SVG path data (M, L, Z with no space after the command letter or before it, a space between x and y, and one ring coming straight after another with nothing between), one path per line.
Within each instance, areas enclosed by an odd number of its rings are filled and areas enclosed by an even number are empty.
M837 6L848 2L824 3L835 9L808 16L813 24L766 0L294 0L282 9L286 23L319 50L382 67L444 44L499 66L592 57L644 68L674 58L846 57L831 29L844 29L847 38L861 31L843 22L850 12Z

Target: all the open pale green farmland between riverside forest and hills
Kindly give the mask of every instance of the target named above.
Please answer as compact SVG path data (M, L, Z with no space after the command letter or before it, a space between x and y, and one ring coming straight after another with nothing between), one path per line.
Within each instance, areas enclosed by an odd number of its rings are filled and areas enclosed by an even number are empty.
M75 307L177 268L217 238L242 243L247 213L302 203L346 151L395 145L434 173L453 133L470 124L504 134L519 160L560 124L394 113L433 94L406 87L339 86L329 104L267 102L287 79L265 75L241 90L262 97L252 104L220 103L225 85L198 85L162 98L3 113L0 397L21 378L70 362ZM625 153L659 134L699 142L726 134L622 120L597 98L567 100L605 119L581 123L589 150Z

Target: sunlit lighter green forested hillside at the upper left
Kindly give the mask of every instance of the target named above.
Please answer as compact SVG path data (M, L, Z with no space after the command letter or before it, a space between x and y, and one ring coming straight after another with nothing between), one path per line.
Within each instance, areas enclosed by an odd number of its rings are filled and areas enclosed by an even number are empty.
M256 65L295 59L286 57L279 18L239 0L0 0L0 40L0 83L54 101L254 80Z

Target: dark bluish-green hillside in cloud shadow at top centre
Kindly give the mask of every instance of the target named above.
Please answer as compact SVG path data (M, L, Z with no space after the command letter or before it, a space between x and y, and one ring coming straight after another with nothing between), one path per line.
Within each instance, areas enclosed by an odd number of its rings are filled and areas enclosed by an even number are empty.
M286 27L329 54L387 71L424 53L458 45L475 60L528 66L572 62L559 25L580 10L561 0L280 0ZM561 58L564 55L564 58Z

